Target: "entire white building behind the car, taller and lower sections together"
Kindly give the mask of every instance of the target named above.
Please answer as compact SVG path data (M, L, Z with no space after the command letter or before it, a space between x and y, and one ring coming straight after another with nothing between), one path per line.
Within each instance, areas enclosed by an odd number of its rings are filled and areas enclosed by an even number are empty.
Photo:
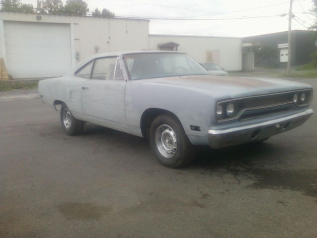
M173 46L198 62L241 70L240 38L149 36L149 21L139 19L0 12L0 58L13 78L62 76L96 53Z

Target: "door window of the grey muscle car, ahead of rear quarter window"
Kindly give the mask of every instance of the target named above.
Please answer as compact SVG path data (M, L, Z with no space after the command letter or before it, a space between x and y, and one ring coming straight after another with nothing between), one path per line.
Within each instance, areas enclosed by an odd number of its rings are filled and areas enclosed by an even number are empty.
M113 80L116 60L116 57L96 59L92 79Z

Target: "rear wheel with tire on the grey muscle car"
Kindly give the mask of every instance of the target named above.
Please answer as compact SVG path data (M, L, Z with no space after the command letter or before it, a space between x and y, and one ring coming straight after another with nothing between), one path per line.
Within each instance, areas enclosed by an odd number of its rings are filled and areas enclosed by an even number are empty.
M84 121L74 118L66 104L60 108L60 123L67 135L78 135L83 132Z

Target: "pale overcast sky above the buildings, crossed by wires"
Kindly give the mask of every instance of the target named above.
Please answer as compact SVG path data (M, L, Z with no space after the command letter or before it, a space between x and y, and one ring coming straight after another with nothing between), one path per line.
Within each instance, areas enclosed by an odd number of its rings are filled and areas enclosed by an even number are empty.
M21 1L32 3L36 7L36 0ZM63 0L64 4L65 2L66 0ZM120 17L183 19L150 19L150 34L246 37L288 30L289 0L86 0L86 2L90 12L98 7L107 8ZM313 24L316 16L304 13L312 8L312 0L293 1L292 12L295 17L292 19L292 30L307 30Z

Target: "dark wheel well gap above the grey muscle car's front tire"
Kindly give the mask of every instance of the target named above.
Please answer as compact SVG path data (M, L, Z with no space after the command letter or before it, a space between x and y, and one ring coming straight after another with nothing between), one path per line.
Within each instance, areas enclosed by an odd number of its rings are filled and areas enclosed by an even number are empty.
M173 115L176 119L178 119L175 114L171 113L170 111L164 110L164 109L149 108L149 109L145 110L141 116L141 121L140 121L140 128L141 128L141 132L142 132L143 137L145 137L145 138L149 137L150 127L151 127L152 121L157 116L159 116L160 114L163 114L163 113L169 113L169 114Z

